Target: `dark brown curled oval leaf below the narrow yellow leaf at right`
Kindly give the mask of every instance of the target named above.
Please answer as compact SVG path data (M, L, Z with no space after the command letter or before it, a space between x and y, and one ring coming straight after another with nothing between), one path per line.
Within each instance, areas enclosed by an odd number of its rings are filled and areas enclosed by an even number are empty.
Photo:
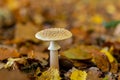
M103 72L108 72L110 70L110 62L105 54L93 51L93 59L97 67Z

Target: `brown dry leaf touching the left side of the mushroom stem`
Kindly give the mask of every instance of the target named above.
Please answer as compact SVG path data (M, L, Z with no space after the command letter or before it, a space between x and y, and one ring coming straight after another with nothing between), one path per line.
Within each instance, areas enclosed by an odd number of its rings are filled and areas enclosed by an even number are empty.
M35 58L38 60L41 59L48 59L49 52L44 52L46 48L44 46L36 46L31 45L30 46L22 46L19 48L19 52L22 55L27 55L29 58Z

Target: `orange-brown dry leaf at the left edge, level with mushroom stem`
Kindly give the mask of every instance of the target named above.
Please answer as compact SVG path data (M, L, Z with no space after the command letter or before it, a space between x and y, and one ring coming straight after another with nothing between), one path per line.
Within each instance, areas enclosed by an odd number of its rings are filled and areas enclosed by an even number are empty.
M0 60L7 59L9 57L19 57L19 53L16 49L7 46L0 46Z

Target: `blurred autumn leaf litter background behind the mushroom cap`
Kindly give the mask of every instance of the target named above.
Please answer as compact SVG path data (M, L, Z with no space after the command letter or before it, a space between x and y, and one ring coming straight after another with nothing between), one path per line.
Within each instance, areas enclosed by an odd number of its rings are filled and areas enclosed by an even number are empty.
M106 40L120 41L119 23L120 0L0 0L0 44L28 41L44 46L35 33L62 27L73 33L60 42L63 49L73 44L100 46Z

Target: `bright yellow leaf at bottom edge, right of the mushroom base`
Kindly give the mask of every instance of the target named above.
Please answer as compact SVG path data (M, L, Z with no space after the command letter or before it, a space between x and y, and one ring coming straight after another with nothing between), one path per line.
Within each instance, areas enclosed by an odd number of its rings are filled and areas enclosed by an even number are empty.
M71 80L86 80L86 77L87 77L87 73L85 71L75 69L72 72L70 79Z

